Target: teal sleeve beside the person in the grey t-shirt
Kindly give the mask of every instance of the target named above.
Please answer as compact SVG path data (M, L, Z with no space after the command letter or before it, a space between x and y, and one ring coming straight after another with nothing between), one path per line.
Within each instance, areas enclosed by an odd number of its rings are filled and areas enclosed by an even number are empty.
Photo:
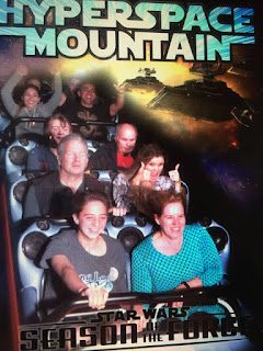
M139 245L132 254L132 291L139 293L152 293L152 280Z

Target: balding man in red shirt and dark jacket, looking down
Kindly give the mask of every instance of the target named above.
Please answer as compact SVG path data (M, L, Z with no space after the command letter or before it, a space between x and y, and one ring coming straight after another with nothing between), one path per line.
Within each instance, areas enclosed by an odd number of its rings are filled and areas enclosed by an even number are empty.
M134 162L137 128L133 124L118 124L115 140L101 146L89 160L89 169L114 170L129 168Z

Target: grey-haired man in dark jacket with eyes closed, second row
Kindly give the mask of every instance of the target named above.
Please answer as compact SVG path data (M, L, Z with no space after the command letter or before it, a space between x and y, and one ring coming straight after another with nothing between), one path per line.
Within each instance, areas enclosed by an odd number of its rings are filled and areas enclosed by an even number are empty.
M88 147L78 134L70 134L58 145L59 171L54 171L32 181L25 196L23 217L49 215L56 218L71 216L71 201L75 193L87 190L102 190L110 193L105 184L85 174Z

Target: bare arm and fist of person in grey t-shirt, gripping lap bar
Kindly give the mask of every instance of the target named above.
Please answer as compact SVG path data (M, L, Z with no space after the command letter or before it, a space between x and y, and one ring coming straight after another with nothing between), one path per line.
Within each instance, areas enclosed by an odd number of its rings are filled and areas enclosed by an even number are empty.
M50 259L54 271L60 276L66 286L76 294L87 296L91 308L103 308L108 293L100 286L88 287L79 278L69 259L64 254L56 254Z

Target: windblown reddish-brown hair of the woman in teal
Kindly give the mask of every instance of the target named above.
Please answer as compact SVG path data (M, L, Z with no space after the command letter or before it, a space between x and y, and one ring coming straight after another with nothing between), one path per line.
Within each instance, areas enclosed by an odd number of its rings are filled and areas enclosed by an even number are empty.
M183 186L181 192L176 192L174 189L158 191L147 186L136 186L134 202L139 212L153 219L155 215L160 217L165 205L172 202L181 203L185 213L186 193Z

